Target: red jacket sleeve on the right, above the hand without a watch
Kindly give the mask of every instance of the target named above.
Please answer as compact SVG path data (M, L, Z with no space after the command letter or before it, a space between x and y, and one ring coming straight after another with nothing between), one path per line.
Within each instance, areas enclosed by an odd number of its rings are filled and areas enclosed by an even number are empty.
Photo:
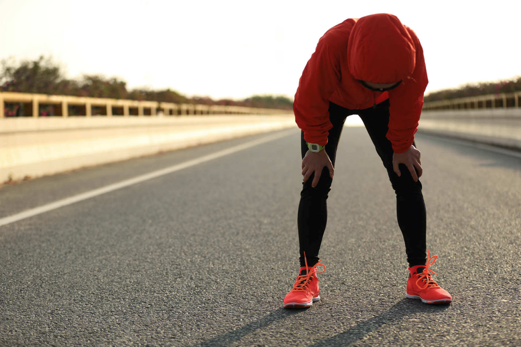
M423 48L414 31L407 29L416 48L416 67L412 75L403 81L402 88L389 91L390 117L386 137L391 141L395 153L403 153L413 144L423 108L425 88L429 82Z

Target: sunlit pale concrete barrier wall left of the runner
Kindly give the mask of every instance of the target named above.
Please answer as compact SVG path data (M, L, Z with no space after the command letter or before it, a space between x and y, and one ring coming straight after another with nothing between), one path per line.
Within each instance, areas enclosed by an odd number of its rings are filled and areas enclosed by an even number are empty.
M0 119L0 183L295 127L292 114Z

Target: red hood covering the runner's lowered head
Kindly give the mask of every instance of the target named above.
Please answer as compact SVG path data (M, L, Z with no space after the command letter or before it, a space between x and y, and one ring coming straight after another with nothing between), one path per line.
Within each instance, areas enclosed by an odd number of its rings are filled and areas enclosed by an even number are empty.
M398 17L370 15L358 19L351 30L348 64L357 80L395 83L412 75L416 49Z

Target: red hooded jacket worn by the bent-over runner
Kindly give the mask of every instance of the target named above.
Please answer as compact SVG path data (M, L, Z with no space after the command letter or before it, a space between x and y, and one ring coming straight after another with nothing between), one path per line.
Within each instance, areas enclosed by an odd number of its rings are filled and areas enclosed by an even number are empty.
M374 92L357 80L402 83ZM423 49L414 31L390 14L347 19L320 38L302 72L295 94L295 121L310 143L325 145L329 129L329 101L348 109L363 109L389 98L389 131L395 153L414 141L427 71Z

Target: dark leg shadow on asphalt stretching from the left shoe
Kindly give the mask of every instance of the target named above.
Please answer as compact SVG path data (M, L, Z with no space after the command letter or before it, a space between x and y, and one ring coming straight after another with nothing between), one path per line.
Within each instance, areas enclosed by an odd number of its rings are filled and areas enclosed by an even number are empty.
M270 313L269 315L253 321L250 324L245 325L242 328L239 328L237 330L228 331L224 334L221 334L213 339L209 339L203 342L200 342L194 347L199 346L227 346L235 341L238 341L242 337L246 336L249 333L254 332L255 330L266 328L270 326L271 324L274 324L277 320L281 320L296 314L299 314L301 312L307 311L307 308L302 309L287 309L284 307L281 307L277 309L277 311L274 311Z

